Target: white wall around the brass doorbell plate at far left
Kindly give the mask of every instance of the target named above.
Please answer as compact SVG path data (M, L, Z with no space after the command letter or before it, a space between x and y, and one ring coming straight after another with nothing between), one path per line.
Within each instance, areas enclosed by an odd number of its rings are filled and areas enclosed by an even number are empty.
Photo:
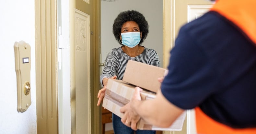
M0 2L0 134L36 134L35 84L35 2L1 0ZM31 46L31 105L17 112L17 82L14 43L20 40Z

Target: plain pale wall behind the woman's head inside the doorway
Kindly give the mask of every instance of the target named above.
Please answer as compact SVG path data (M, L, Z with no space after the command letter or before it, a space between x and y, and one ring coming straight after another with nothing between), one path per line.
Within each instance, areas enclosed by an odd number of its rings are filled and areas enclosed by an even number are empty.
M121 45L112 33L114 19L122 11L137 10L145 16L149 25L149 33L141 44L155 49L163 67L163 1L162 0L116 0L101 1L101 63L112 48Z

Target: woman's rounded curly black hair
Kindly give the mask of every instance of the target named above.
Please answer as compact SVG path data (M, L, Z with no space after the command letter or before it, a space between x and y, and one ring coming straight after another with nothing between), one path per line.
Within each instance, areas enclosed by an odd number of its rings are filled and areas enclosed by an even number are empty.
M142 37L140 40L140 43L143 43L144 39L146 38L148 34L148 23L145 19L145 17L138 11L134 10L128 10L128 11L123 11L119 13L119 15L116 17L114 20L113 24L113 34L116 38L116 40L119 42L120 36L121 35L121 28L123 24L127 21L134 21L138 24L140 28L140 32L142 32ZM122 45L122 43L119 42L119 44Z

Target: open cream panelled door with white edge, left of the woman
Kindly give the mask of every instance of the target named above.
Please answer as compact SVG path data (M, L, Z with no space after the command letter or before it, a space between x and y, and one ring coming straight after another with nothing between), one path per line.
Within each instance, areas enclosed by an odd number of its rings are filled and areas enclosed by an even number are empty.
M99 0L58 0L59 133L98 133L94 121L93 54ZM98 38L99 40L99 38ZM94 69L95 68L95 69ZM96 105L95 105L96 107ZM95 121L97 122L97 121ZM99 121L98 121L99 122Z

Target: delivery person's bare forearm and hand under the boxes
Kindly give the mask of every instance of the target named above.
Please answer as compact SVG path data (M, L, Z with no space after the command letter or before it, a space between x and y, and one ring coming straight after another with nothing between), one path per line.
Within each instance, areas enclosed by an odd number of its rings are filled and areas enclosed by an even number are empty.
M184 111L171 104L160 90L155 99L141 101L140 90L136 87L132 100L120 109L124 113L121 121L134 130L140 117L152 125L169 127Z

